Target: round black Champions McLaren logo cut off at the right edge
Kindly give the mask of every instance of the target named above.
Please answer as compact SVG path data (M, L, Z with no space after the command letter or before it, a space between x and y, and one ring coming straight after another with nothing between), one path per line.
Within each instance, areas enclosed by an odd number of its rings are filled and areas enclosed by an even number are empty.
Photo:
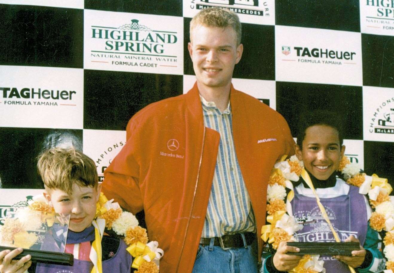
M394 97L383 101L369 124L370 133L394 134Z

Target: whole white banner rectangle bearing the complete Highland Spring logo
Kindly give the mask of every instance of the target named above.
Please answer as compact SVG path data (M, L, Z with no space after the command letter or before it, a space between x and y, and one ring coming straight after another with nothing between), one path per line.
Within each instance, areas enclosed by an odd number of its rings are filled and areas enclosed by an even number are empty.
M183 74L183 18L84 10L84 68Z

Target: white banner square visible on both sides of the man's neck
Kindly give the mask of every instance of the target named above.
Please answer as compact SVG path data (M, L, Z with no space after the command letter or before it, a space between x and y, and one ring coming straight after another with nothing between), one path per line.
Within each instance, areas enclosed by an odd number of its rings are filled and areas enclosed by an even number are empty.
M196 77L194 75L183 76L183 93L187 93L192 87ZM232 79L234 88L255 97L269 107L276 110L276 86L274 80L250 80Z

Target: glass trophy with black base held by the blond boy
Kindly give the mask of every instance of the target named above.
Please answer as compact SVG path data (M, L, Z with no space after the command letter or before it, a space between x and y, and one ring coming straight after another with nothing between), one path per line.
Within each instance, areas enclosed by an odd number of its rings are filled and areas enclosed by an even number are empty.
M64 253L69 221L70 215L18 208L0 226L0 251L22 247L15 260L30 254L32 262L72 265L72 254Z

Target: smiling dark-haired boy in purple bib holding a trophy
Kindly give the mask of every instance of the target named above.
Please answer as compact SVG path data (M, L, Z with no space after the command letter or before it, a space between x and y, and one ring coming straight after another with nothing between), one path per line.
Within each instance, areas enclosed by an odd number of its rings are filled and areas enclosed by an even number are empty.
M360 243L360 250L352 251L351 256L323 256L321 259L324 260L326 272L350 272L348 266L357 268L358 272L383 271L385 261L378 249L378 234L368 224L371 213L368 201L363 194L359 194L358 187L348 185L337 177L345 152L340 119L331 112L315 110L303 114L299 124L295 146L297 158L303 161L316 193L325 209L330 212L331 223L339 236L348 236L346 241ZM294 215L299 216L299 211L312 215L312 211L317 208L312 190L302 177L298 184L294 185L295 198L291 202ZM299 241L335 241L331 231L324 229L325 220L316 219L313 224L303 223L302 230L297 232L302 233L298 236ZM302 256L287 255L286 252L298 250L281 242L273 256L264 255L262 272L277 273L296 267Z

